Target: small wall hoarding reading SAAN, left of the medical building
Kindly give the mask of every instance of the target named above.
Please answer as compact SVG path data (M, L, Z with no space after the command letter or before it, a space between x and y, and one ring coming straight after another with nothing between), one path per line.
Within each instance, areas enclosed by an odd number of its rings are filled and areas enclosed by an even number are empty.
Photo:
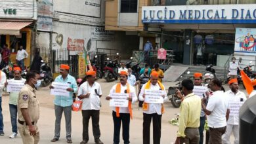
M91 27L91 39L97 41L112 41L114 31L106 31L105 27Z

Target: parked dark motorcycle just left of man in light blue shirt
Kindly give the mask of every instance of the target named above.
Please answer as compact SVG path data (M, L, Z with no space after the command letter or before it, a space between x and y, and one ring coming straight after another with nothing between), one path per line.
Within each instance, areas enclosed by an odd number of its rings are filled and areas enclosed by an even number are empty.
M40 77L41 86L48 86L51 82L53 82L53 73L51 68L43 60L41 60Z

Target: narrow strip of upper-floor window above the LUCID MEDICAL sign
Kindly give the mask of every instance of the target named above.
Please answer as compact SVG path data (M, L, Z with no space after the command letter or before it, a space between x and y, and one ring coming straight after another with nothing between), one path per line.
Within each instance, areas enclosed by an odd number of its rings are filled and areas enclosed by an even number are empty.
M225 5L253 4L256 0L150 0L151 5Z

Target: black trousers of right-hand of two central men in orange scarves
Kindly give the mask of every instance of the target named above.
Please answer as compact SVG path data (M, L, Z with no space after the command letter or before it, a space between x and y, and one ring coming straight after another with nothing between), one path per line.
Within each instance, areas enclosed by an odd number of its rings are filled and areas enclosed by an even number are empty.
M150 123L153 118L153 143L160 144L161 115L143 113L143 144L150 144Z

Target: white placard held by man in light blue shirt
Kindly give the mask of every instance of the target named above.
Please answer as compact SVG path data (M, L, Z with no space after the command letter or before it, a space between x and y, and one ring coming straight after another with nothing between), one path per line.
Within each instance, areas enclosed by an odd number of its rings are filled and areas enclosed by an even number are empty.
M70 96L70 92L67 91L67 88L70 88L70 84L62 82L53 82L51 89L51 95L55 96Z

